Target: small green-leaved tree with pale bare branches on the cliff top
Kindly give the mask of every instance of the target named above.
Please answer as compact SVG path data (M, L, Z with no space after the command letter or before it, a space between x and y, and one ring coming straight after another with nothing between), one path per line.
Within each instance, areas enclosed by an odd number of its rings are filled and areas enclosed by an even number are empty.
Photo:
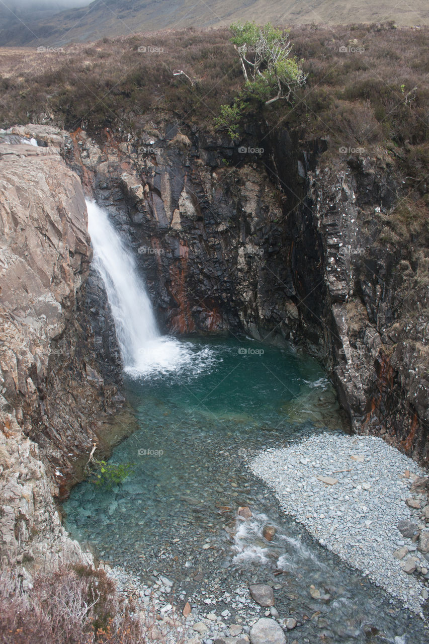
M290 56L288 31L276 29L271 23L258 27L250 22L231 24L231 30L246 92L268 105L275 100L289 100L292 91L305 84L307 74L301 68L302 61Z

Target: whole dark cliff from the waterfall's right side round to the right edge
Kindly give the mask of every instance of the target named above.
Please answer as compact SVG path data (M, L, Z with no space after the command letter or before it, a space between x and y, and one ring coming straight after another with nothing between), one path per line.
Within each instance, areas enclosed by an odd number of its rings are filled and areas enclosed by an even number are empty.
M428 463L428 227L392 154L251 126L240 147L174 124L72 141L166 330L304 345L354 430Z

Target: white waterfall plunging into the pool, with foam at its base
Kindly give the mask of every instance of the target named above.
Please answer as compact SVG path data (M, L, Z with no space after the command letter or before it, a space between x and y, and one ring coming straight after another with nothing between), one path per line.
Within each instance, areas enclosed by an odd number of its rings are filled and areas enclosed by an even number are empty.
M106 211L88 199L86 207L93 266L106 287L126 372L153 377L182 370L184 366L200 370L201 362L209 357L207 352L195 352L191 343L160 334L133 255Z

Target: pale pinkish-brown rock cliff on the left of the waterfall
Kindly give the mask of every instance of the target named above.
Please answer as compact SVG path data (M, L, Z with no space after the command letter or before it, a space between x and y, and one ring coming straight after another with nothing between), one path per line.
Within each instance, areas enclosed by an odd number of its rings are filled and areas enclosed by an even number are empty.
M0 145L0 554L23 574L88 559L64 533L53 496L120 403L118 352L106 368L98 359L107 304L88 279L81 181L53 142Z

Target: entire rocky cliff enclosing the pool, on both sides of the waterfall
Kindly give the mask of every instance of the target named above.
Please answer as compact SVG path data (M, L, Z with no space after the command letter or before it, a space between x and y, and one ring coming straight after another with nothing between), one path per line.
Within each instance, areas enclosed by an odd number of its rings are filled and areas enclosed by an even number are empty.
M122 431L108 424L120 359L82 185L134 249L164 330L303 345L356 431L428 462L428 230L387 154L338 162L286 129L249 128L240 148L171 124L20 137L40 147L0 146L3 558L82 559L53 495L106 426Z

